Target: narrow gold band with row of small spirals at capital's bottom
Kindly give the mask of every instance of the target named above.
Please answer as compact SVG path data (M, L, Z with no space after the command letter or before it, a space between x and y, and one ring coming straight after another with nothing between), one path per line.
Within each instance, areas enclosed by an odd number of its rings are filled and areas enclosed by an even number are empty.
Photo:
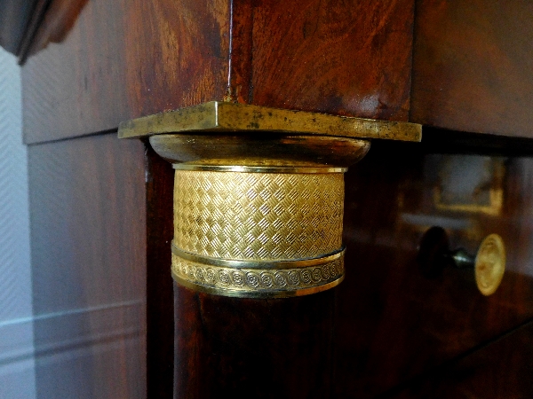
M172 278L179 284L225 296L283 298L337 286L344 278L344 252L321 265L272 269L235 269L191 262L172 254Z

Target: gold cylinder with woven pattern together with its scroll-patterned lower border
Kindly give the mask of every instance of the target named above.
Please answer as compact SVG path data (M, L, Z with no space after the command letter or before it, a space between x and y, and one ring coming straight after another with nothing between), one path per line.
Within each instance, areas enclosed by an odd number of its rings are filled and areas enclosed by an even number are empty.
M228 296L297 296L336 286L344 277L342 256L311 267L274 265L339 252L343 207L342 172L176 169L173 245L200 258L266 266L222 267L172 254L172 276Z

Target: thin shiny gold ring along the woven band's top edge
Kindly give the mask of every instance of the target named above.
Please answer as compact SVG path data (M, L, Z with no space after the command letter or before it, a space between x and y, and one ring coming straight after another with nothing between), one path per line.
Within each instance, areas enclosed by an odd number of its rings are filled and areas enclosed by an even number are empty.
M210 172L241 172L241 173L344 173L348 168L287 168L287 167L246 167L246 166L221 166L221 165L191 165L187 163L175 163L172 165L177 170L197 170Z

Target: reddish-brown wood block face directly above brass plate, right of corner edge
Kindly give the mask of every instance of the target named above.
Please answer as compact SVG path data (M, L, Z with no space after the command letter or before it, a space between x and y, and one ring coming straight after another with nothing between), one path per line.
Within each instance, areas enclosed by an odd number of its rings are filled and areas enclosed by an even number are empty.
M406 121L412 0L234 4L234 99Z

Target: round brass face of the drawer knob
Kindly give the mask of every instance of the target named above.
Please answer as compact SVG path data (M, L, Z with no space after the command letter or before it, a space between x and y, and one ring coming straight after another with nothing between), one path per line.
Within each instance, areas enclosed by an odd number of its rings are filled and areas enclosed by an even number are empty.
M504 240L497 234L490 234L478 249L475 257L475 282L483 295L495 293L505 272Z

